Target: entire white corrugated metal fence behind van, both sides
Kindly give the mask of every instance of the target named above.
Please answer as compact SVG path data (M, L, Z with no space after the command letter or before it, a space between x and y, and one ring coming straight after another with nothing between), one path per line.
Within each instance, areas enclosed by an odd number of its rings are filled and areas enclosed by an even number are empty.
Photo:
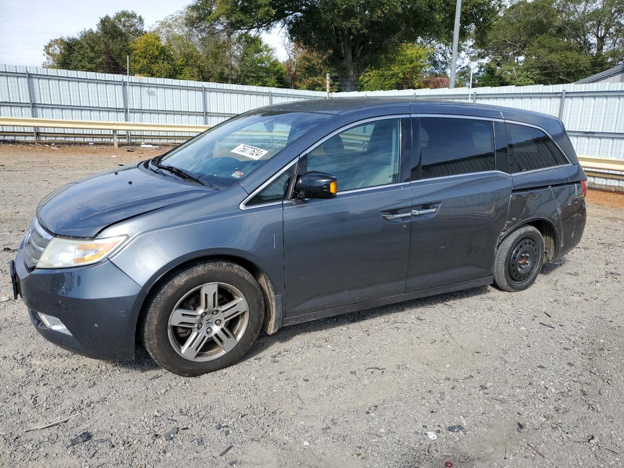
M0 115L214 125L263 105L325 97L325 92L0 65ZM337 92L333 97L411 96L504 105L563 120L578 154L624 159L624 83ZM41 139L97 140L102 130L36 129ZM32 139L30 129L0 135ZM180 134L138 134L179 141ZM188 136L188 135L186 135Z

